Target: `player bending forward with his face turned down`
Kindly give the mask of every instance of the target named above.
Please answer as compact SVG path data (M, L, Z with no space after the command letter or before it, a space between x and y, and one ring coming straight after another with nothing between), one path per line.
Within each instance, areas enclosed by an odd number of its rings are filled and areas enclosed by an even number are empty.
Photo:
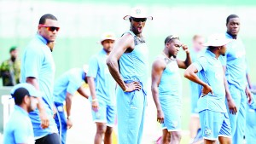
M84 82L87 82L87 71L88 66L86 65L84 65L83 68L72 68L63 73L55 82L53 95L55 107L60 115L60 119L55 116L55 123L57 124L59 135L61 134L61 144L66 143L67 130L73 126L71 118L73 95L75 95L76 92L79 92L84 98L88 99L89 97L89 94L83 87ZM64 102L66 103L67 117L64 111Z

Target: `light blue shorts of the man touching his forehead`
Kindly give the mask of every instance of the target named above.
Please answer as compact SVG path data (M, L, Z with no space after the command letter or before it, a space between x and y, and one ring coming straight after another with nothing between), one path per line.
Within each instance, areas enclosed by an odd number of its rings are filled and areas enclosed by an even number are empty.
M172 95L160 95L160 105L164 112L162 128L168 131L181 130L181 102Z

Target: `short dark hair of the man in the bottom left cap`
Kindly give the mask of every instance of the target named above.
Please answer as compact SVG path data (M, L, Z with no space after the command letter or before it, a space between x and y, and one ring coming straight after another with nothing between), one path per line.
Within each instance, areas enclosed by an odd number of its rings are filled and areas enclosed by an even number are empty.
M15 104L20 105L26 95L30 96L27 89L25 88L16 89L15 93L12 94L13 98L15 99Z

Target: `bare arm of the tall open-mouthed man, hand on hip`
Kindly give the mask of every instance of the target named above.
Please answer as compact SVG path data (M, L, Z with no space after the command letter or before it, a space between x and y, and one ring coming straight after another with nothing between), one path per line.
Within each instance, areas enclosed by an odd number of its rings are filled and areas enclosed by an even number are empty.
M125 34L123 37L119 39L119 41L114 45L112 52L108 56L107 59L107 65L109 72L111 73L113 79L119 84L121 89L124 91L133 91L136 89L140 89L137 82L134 82L133 84L125 84L123 79L121 78L121 75L119 73L119 64L118 60L120 59L121 55L125 53L127 50L133 50L134 49L134 40L131 34Z

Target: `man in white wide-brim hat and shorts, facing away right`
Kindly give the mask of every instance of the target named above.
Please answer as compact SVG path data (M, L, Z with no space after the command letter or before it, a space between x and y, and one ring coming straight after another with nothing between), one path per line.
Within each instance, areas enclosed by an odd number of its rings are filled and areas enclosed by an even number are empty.
M205 143L231 144L230 119L225 106L224 72L218 57L225 55L230 39L215 34L208 38L207 51L190 65L184 77L201 85L198 110ZM197 76L196 73L199 73ZM197 99L197 97L195 97Z

